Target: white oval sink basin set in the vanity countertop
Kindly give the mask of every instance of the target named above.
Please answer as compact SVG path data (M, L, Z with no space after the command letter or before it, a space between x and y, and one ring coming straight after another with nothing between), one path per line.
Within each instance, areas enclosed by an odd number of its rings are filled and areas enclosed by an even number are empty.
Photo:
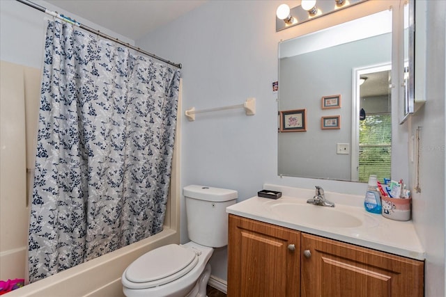
M358 212L352 207L321 207L302 202L267 202L268 209L280 218L299 225L313 225L318 227L374 227L378 222L366 214ZM351 213L349 213L349 211Z

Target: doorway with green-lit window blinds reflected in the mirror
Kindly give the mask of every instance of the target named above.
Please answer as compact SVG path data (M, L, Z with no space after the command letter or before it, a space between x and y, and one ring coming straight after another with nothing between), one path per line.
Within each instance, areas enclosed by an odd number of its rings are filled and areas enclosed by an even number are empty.
M359 102L359 124L352 125L352 180L368 182L369 175L380 180L390 177L392 152L392 106L390 74L392 65L379 65L356 70L359 92L354 100ZM357 81L357 80L356 80ZM359 128L359 131L355 129ZM358 139L358 143L355 140ZM355 161L357 160L357 163Z

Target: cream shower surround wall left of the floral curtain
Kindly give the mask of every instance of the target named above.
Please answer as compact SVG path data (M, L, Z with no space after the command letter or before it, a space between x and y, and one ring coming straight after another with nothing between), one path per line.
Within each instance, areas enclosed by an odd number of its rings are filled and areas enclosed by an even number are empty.
M40 72L35 72L33 78L38 80ZM38 83L33 83L37 88L28 88L33 92L25 91L25 83L30 80L25 78L22 66L0 61L0 76L0 280L7 280L25 275L29 218L25 110L26 102L35 102L31 99L36 99L40 91Z

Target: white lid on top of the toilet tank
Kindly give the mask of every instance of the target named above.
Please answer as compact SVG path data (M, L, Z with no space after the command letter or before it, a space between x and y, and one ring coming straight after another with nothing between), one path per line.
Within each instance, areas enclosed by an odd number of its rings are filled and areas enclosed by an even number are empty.
M189 198L214 202L236 200L238 197L237 191L234 190L229 190L227 188L213 188L211 186L199 186L197 184L185 186L183 188L183 195Z

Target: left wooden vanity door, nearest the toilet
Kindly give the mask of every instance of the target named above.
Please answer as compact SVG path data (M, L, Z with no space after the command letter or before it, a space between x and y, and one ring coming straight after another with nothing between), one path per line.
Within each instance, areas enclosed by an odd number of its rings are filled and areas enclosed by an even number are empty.
M229 215L228 296L300 296L300 232Z

